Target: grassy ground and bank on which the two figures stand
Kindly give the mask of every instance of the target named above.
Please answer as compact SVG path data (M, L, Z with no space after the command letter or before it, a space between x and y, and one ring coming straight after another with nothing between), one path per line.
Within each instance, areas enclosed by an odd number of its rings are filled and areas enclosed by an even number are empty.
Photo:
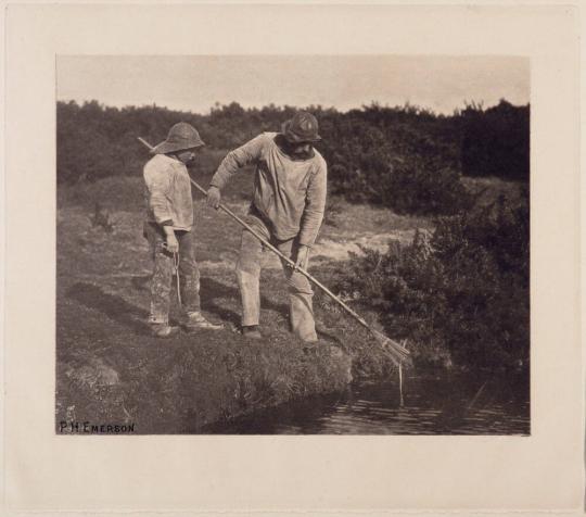
M207 185L207 177L199 178ZM243 215L252 172L225 201ZM240 228L194 199L202 305L221 331L149 335L151 262L142 237L142 178L105 178L61 187L58 214L58 392L62 420L136 425L136 432L201 432L205 426L288 400L342 389L353 377L392 373L362 329L316 295L320 341L304 346L288 329L279 262L266 257L262 278L265 339L239 333L233 265ZM311 272L329 283L358 244L384 250L408 242L428 219L330 200ZM175 297L174 297L175 299ZM178 307L173 315L179 317ZM369 314L375 320L373 314ZM375 321L374 321L375 323Z

